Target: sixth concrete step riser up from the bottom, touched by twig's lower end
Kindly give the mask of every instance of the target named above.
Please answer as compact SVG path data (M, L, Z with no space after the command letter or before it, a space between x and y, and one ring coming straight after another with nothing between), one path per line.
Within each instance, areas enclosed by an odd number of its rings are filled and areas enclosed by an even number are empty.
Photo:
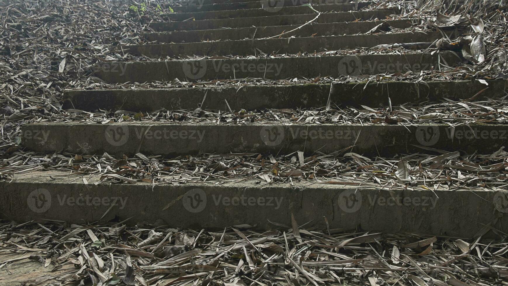
M308 24L295 32L282 34L281 38L292 36L316 37L356 34L367 32L373 27L387 22L390 26L404 29L411 26L409 20L392 21L361 21L361 22L342 22L342 23L323 23ZM152 32L142 33L141 35L148 41L157 41L159 43L195 43L210 40L243 40L243 39L262 39L273 37L282 32L289 32L301 25L268 26L268 27L245 27L234 29L212 29L212 30L190 30L173 32Z

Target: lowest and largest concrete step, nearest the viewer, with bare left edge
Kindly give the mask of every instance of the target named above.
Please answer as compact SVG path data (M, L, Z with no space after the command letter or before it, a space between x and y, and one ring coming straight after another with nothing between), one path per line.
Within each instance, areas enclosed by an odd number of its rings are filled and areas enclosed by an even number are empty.
M88 184L82 178L86 177ZM346 229L473 237L485 225L506 232L496 199L506 191L359 188L326 184L295 188L259 182L109 184L100 175L31 171L0 182L1 216L17 222L58 220L69 224L130 219L128 224L163 219L174 228L224 230L240 224L273 229L291 226L292 215L306 229ZM323 182L324 181L324 182ZM326 221L325 221L326 219ZM327 225L328 224L328 225ZM492 235L492 234L491 234ZM484 237L489 237L485 235Z

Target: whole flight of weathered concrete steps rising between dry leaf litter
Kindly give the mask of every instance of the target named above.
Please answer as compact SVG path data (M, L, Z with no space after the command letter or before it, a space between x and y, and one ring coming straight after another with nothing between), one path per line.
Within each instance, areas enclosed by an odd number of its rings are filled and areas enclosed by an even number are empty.
M142 34L155 44L123 46L119 50L154 60L103 62L96 76L110 83L173 81L212 81L242 78L281 80L312 79L320 76L358 76L407 73L454 66L462 59L453 52L327 54L330 50L373 47L379 44L431 43L441 32L364 34L380 23L404 29L411 19L385 20L396 10L361 10L368 2L334 2L312 5L322 12L312 24L291 34L263 39L293 30L317 14L304 2L249 2L243 0L188 1L169 15L171 22L153 23L156 32ZM326 13L324 13L326 12ZM190 19L190 20L189 20ZM444 31L451 37L455 30ZM295 36L296 38L289 38ZM219 41L228 40L228 41ZM262 53L266 57L253 57ZM290 54L293 54L291 56ZM300 56L294 56L299 54ZM193 58L194 55L208 58ZM269 56L280 55L280 56ZM158 58L180 57L180 60ZM157 58L155 60L155 58ZM489 81L488 97L505 94L505 81ZM382 83L256 85L237 87L195 87L168 89L108 89L66 91L64 108L84 111L127 110L152 112L159 109L252 111L264 108L298 109L325 106L330 98L337 105L378 106L435 101L442 98L465 99L485 84L479 81L427 81ZM203 101L203 98L206 100ZM226 103L226 101L228 103ZM454 132L476 130L505 132L504 125L469 125ZM73 154L117 158L132 156L202 153L253 156L290 154L304 151L330 154L355 146L366 156L395 156L421 152L421 146L469 154L497 151L502 140L473 136L458 140L447 124L356 125L356 124L223 124L122 122L40 123L23 127L25 148L44 153L65 151ZM178 177L168 174L168 178ZM221 229L250 224L270 228L310 222L329 228L363 229L387 232L417 232L470 237L495 222L508 226L495 214L489 190L444 190L436 188L387 190L382 186L359 188L340 184L340 178L327 183L277 183L265 185L253 180L225 184L158 184L149 180L135 184L107 184L97 175L47 170L16 176L11 183L0 183L2 212L15 220L53 219L82 221L120 220L133 222L162 218L177 227ZM298 185L301 185L298 187ZM306 186L303 186L306 185ZM385 203L379 203L384 201ZM386 203L393 201L393 203ZM424 203L425 201L425 203Z

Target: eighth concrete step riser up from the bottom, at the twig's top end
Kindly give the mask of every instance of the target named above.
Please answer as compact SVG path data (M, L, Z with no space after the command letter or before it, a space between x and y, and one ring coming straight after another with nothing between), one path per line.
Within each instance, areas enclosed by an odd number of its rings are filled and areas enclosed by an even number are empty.
M312 7L319 12L340 12L355 11L370 5L369 2L360 3L342 3L329 5L316 5ZM227 18L245 18L245 17L265 17L273 15L298 15L314 13L308 6L294 6L281 8L257 8L244 10L225 10L225 11L208 11L193 13L171 13L166 14L172 21L183 21L187 19L207 20L207 19L227 19ZM315 14L317 16L317 13ZM315 17L315 16L314 16Z

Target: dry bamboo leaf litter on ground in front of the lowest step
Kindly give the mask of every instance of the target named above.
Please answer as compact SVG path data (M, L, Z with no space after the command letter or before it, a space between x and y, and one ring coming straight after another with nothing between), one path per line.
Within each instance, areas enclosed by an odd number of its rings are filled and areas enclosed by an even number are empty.
M249 225L210 232L173 229L162 220L125 223L3 223L0 273L38 264L38 275L15 281L44 285L490 286L508 277L508 244L482 233L465 240L322 231L294 220L265 232Z

